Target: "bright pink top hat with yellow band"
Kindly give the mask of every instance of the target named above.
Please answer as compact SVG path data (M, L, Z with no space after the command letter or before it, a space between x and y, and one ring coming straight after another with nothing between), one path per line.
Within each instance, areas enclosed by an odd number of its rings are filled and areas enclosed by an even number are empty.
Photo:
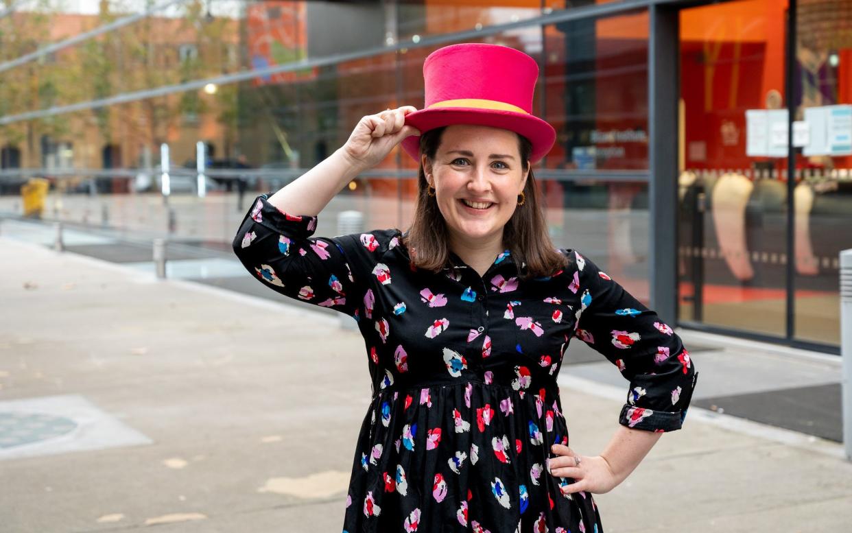
M520 50L498 44L461 43L437 49L423 61L426 103L406 116L421 133L452 124L509 129L533 143L530 162L544 158L556 130L533 116L538 64ZM420 162L420 137L402 140Z

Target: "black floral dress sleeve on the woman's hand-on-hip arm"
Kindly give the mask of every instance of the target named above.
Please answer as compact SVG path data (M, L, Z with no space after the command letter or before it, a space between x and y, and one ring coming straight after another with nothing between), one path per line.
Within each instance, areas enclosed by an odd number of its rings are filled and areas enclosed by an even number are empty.
M657 433L680 429L698 377L680 337L594 262L573 254L581 295L575 335L630 381L619 424Z

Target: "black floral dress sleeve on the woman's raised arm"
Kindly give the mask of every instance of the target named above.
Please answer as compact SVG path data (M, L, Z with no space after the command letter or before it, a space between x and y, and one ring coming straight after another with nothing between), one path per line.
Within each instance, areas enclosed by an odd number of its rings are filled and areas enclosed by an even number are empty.
M316 225L316 216L279 211L262 194L239 226L233 251L270 289L357 320L363 295L358 276L374 266L376 238L372 233L314 238ZM367 242L361 244L361 237Z

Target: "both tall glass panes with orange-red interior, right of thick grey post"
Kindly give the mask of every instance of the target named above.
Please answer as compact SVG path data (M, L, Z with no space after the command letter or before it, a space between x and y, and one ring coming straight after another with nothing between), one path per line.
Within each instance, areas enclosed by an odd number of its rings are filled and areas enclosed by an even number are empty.
M852 2L793 8L680 12L679 319L834 351L838 254L852 248Z

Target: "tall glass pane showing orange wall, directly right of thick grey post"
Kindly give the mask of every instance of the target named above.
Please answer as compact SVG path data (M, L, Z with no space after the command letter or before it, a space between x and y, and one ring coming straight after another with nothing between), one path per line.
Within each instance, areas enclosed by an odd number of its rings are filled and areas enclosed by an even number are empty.
M680 12L681 323L786 336L786 12Z

